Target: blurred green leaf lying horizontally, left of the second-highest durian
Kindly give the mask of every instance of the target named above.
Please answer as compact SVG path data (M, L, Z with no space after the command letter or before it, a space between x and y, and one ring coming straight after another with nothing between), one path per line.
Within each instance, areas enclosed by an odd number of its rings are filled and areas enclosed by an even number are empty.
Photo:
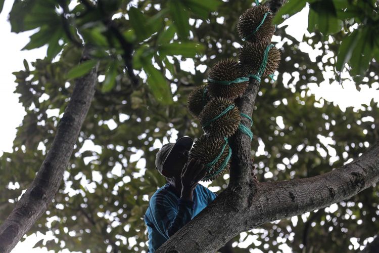
M159 46L158 48L160 56L166 55L181 55L184 57L195 57L198 53L203 53L205 47L202 44L195 43L193 41L187 41L183 43L170 43Z

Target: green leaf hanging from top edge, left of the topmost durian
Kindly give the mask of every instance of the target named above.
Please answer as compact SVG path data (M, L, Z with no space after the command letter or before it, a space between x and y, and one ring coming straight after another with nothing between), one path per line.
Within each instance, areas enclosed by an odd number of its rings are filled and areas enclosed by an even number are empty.
M188 11L180 1L176 0L170 0L168 8L179 37L187 39L189 35Z

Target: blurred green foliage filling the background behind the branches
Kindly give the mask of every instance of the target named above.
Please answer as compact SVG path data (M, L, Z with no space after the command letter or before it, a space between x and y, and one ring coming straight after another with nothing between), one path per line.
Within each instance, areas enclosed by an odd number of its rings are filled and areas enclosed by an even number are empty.
M16 0L9 16L12 31L35 29L25 50L48 49L45 58L24 61L24 69L14 73L27 114L13 152L0 157L0 222L49 150L73 79L99 60L99 85L64 183L28 234L52 232L55 239L35 246L55 251L147 250L143 216L149 197L165 184L154 170L157 147L175 136L201 134L186 110L186 97L218 60L237 56L242 41L235 26L253 2ZM379 88L377 3L291 0L274 21L279 24L307 2L310 33L299 43L285 26L277 29L283 60L276 81L262 81L255 104L252 155L261 182L325 173L379 140L373 100L342 111L309 90L322 81L343 85L351 80L358 90ZM93 60L77 65L83 41L93 46ZM131 63L138 85L124 67L130 64L125 45L135 50ZM319 56L301 50L305 45ZM190 71L185 63L193 64ZM227 183L226 174L210 186L221 191ZM233 252L276 252L283 245L294 252L353 251L379 229L378 194L374 186L317 212L244 232L231 240Z

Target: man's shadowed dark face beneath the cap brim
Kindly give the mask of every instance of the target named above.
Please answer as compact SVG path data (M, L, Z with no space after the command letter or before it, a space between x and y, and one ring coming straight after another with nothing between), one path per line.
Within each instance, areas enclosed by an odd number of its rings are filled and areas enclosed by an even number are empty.
M182 168L188 159L188 150L185 148L173 149L161 174L165 177L180 177Z

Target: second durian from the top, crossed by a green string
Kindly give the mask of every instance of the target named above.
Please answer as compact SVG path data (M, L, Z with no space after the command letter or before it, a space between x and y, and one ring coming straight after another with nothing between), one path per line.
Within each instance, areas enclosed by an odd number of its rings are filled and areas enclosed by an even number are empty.
M264 51L267 48L267 43L250 43L247 42L240 48L239 58L240 64L249 74L257 74L259 67L262 64ZM268 51L268 59L266 68L262 77L267 77L273 74L280 62L280 51L276 47L271 47Z

